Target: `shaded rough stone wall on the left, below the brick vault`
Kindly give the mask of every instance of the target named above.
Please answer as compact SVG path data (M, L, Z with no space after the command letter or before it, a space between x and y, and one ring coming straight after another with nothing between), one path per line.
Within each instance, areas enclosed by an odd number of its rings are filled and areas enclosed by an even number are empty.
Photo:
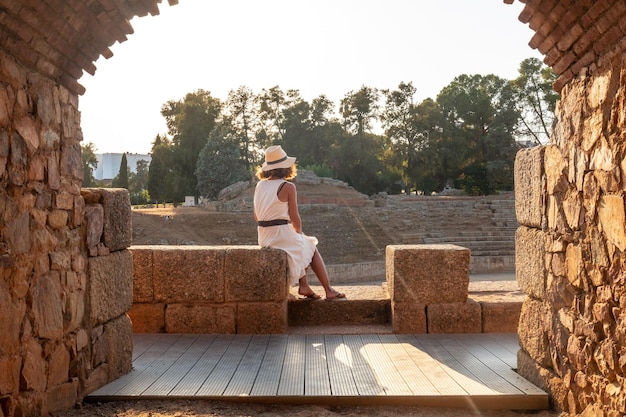
M88 257L81 139L77 95L0 51L1 416L69 408L130 366L127 305L90 279L130 258Z

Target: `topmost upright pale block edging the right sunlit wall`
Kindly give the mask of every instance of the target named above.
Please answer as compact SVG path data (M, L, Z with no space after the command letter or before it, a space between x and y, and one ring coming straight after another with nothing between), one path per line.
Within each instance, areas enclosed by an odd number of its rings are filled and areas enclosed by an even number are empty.
M542 209L543 155L545 146L522 149L515 156L515 215L519 224L541 227L544 214Z

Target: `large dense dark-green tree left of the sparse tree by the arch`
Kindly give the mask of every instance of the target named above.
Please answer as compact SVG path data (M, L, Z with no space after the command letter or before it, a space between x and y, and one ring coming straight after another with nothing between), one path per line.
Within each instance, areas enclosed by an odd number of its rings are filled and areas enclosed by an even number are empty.
M456 179L466 191L512 189L520 117L515 100L511 84L492 74L460 75L437 96L447 120L444 136L462 161Z

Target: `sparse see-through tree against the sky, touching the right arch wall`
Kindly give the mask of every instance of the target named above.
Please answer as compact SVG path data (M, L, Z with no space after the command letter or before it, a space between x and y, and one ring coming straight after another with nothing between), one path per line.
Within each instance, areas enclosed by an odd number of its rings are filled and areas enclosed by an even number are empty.
M557 79L552 68L537 58L522 61L519 77L511 81L517 97L520 125L518 135L535 145L550 141L558 93L552 85Z

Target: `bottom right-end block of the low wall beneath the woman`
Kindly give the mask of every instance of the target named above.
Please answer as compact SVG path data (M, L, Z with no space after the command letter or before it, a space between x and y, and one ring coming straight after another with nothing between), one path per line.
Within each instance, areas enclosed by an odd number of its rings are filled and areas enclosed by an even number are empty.
M237 305L237 333L287 333L287 299L280 303L239 303Z

